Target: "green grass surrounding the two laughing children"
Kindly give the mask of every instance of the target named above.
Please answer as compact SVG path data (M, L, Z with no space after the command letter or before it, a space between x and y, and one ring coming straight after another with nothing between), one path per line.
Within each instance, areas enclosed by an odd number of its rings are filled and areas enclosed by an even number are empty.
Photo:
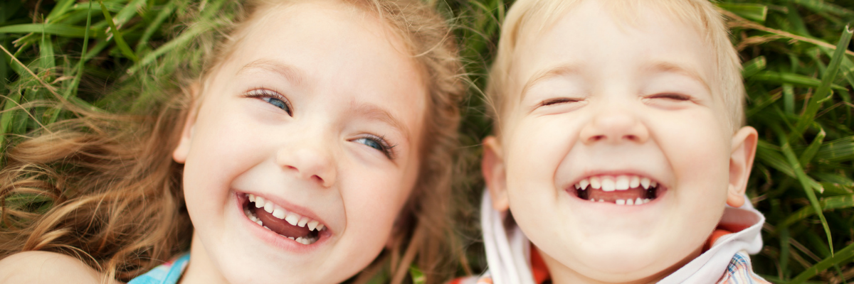
M453 19L470 73L459 176L461 273L483 271L477 142L485 73L512 1L425 0ZM226 0L4 0L0 3L0 147L73 113L33 101L65 98L97 112L140 112L201 68L196 38L231 18ZM760 142L748 195L768 218L754 270L776 283L854 280L854 0L717 3L744 62L747 122ZM224 12L226 11L226 12ZM15 202L14 199L7 200ZM47 205L50 200L44 200ZM463 206L468 204L468 206Z

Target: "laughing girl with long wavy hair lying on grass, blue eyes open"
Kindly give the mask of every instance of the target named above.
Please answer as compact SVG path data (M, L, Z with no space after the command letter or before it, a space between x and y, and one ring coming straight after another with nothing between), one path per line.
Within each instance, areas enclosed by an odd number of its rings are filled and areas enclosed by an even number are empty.
M83 261L128 281L189 257L183 283L364 282L389 262L400 282L413 261L444 280L463 88L442 20L418 0L243 11L156 117L72 108L8 150L3 200L52 206L3 206L0 275L94 277Z

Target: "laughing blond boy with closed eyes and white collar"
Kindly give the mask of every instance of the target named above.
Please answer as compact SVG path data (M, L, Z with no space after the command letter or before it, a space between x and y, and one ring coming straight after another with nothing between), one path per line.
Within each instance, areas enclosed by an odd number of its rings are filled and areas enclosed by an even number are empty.
M487 93L482 281L766 283L757 132L711 3L520 0Z

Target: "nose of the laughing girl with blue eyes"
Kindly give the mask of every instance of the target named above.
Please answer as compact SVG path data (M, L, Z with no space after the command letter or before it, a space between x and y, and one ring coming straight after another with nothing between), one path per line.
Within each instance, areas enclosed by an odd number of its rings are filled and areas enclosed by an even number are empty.
M329 188L336 182L336 165L330 145L308 140L295 142L279 149L276 154L276 163L282 167L283 171L293 171L301 179L314 181L324 188Z

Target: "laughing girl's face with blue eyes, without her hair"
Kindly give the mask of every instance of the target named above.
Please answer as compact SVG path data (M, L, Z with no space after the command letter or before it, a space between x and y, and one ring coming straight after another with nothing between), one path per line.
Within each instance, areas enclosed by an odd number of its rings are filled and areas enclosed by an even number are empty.
M386 246L414 186L424 78L371 14L262 11L174 152L195 228L184 281L344 281Z

